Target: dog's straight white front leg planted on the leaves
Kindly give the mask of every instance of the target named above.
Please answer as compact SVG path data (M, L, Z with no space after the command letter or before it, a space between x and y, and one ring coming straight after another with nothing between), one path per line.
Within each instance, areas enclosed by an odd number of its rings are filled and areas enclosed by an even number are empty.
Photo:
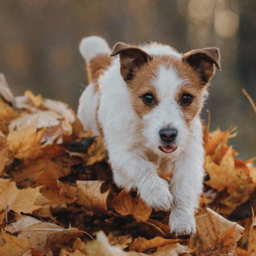
M173 206L170 231L177 237L188 238L196 232L195 209L203 187L204 151L202 143L189 145L176 161L171 184Z

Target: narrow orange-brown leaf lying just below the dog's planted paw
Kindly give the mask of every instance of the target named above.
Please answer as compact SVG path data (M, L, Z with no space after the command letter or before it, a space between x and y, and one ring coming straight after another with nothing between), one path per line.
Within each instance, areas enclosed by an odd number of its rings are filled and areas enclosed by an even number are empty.
M165 239L162 237L155 237L153 239L147 240L145 238L136 238L129 246L130 251L143 252L153 248L158 248L159 246L175 244L180 242L179 239Z

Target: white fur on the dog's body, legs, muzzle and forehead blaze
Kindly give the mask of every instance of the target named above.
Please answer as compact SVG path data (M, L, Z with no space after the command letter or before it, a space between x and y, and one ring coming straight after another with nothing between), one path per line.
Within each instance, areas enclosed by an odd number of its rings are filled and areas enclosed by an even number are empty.
M182 56L173 48L156 43L142 48L151 55ZM94 46L93 49L95 51ZM111 67L99 79L101 96L98 120L109 152L115 183L126 190L137 188L140 197L156 209L168 210L172 206L170 230L179 235L196 231L194 211L198 206L204 175L199 115L196 115L188 130L175 100L175 94L184 82L187 81L180 79L176 70L159 67L152 83L158 91L160 103L141 120L133 110L130 92L121 77L119 58L113 60ZM84 91L79 100L78 117L84 127L98 134L95 131L93 103L98 95L92 94L91 87ZM141 124L142 131L138 129ZM178 130L178 149L171 154L158 149L159 131L167 125ZM158 159L148 161L145 149L156 153ZM170 187L157 174L158 163L166 157L169 165L174 165Z

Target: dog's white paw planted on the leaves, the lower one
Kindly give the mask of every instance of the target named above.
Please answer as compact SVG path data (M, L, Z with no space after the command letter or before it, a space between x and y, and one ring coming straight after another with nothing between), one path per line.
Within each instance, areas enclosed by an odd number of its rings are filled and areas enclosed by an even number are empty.
M177 238L188 239L196 233L194 214L185 210L173 209L169 218L170 232Z

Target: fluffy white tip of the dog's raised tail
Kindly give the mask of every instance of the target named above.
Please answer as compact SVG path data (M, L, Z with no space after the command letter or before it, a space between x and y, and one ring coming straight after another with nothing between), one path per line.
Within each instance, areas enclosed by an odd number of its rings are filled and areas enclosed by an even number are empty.
M86 61L90 61L98 54L110 54L108 43L100 36L89 36L81 40L79 51Z

